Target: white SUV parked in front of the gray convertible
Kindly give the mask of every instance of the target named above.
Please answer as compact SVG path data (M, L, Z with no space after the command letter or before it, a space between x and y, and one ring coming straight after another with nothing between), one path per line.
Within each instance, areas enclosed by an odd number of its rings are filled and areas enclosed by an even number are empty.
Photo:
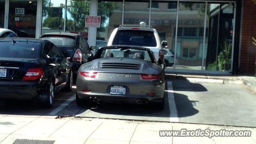
M160 41L160 37L156 29L152 26L142 25L120 25L115 28L108 39L110 45L136 45L150 48L156 60L164 68L164 51L167 47L167 41Z

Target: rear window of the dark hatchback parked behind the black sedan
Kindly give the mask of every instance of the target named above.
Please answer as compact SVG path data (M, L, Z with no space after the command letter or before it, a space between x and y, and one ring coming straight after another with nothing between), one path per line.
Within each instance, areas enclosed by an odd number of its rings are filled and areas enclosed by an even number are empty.
M75 39L69 37L42 37L41 39L47 39L57 46L71 46Z

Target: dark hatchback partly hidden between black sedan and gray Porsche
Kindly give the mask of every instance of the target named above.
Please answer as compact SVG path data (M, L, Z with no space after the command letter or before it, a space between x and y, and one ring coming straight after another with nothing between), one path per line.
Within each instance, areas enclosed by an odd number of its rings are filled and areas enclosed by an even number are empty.
M92 60L91 50L96 49L96 47L89 47L81 34L45 33L40 38L52 41L66 57L70 57L74 77L76 77L80 65Z

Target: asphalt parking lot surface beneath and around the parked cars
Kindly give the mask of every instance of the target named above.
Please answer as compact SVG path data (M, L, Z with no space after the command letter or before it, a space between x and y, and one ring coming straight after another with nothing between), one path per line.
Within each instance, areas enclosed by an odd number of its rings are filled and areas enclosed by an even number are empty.
M58 93L54 107L49 109L28 101L0 101L0 114L256 126L256 95L239 84L190 83L182 79L169 79L166 81L164 110L101 103L92 107L78 107L75 88L72 93Z

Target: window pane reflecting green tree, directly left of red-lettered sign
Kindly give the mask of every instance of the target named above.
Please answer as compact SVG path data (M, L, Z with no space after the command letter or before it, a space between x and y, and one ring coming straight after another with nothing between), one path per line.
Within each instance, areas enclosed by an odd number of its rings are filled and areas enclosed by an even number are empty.
M66 32L82 34L88 39L88 28L85 27L85 16L89 15L90 1L68 0Z

